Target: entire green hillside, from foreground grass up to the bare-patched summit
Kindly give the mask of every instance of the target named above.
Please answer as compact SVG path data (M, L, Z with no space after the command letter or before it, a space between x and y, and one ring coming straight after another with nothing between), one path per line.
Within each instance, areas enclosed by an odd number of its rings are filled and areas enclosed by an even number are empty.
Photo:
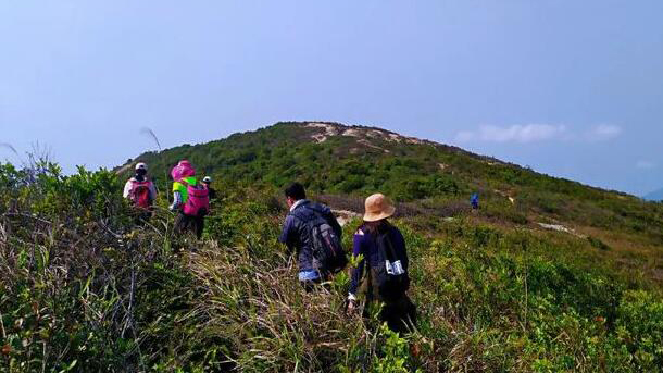
M142 154L157 177L179 158L216 176L201 241L172 233L164 194L136 226L124 175L0 165L0 371L661 371L660 203L333 128ZM275 241L293 178L337 210L374 190L399 198L416 331L346 315L347 273L328 291L299 287ZM349 247L360 222L346 215Z

